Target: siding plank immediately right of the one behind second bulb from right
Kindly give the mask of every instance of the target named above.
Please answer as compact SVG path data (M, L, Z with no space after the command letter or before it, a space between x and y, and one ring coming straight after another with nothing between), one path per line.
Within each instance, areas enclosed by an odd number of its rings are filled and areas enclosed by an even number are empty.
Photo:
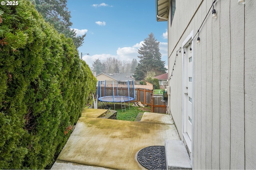
M230 2L220 8L220 169L230 169Z

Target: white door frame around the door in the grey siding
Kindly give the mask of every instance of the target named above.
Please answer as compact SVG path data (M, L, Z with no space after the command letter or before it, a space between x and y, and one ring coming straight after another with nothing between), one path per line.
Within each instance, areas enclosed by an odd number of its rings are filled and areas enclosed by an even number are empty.
M194 92L195 92L195 69L194 69L194 65L195 65L195 60L194 60L194 41L192 41L192 38L193 38L193 30L190 32L190 34L186 37L186 39L183 41L182 43L182 48L183 48L183 52L182 52L182 141L185 143L185 145L187 146L189 152L190 152L190 156L192 156L192 146L193 146L193 138L194 138ZM185 100L186 98L184 97L185 96L185 88L186 88L186 82L184 80L185 78L185 72L187 71L187 66L185 66L184 64L185 63L185 58L186 56L184 56L184 47L187 47L188 45L191 45L191 48L192 48L192 60L193 60L193 77L192 77L192 136L191 136L191 140L190 140L190 137L188 136L188 134L186 133L184 127L186 127L186 107L185 107ZM190 53L189 51L186 51L186 53Z

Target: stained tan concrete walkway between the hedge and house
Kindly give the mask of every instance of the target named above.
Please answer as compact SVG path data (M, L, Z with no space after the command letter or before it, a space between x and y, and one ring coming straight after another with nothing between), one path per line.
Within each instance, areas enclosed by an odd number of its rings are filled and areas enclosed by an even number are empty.
M104 111L84 109L52 169L145 169L140 149L180 140L170 115L146 113L136 122L99 118Z

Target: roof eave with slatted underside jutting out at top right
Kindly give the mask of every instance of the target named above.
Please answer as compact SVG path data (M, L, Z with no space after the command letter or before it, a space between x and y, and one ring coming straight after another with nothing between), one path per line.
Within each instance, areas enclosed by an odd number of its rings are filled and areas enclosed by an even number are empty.
M156 21L167 21L169 0L156 0Z

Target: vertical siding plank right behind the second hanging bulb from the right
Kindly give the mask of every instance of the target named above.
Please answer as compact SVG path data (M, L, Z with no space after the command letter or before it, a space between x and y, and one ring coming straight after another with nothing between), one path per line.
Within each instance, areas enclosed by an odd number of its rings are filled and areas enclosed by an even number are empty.
M212 169L220 169L220 3L212 20Z

